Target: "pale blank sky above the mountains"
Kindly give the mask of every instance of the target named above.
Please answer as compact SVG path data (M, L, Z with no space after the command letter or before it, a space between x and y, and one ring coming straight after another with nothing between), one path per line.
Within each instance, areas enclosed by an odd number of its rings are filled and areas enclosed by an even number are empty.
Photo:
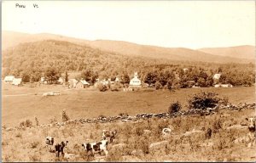
M3 1L2 30L169 48L254 46L255 2Z

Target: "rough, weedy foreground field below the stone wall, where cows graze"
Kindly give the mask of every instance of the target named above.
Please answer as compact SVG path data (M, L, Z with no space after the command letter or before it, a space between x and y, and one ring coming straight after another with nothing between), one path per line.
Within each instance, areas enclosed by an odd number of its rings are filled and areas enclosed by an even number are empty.
M247 147L247 126L241 126L254 110L221 110L215 115L152 118L137 122L70 124L3 131L3 161L57 161L45 148L44 138L68 140L65 153L75 155L62 161L255 161L255 146ZM161 130L171 127L163 137ZM207 129L212 135L207 137ZM99 141L103 129L116 129L117 138L108 145L108 156L87 158L82 143ZM191 132L191 131L197 132ZM15 154L15 155L14 155Z

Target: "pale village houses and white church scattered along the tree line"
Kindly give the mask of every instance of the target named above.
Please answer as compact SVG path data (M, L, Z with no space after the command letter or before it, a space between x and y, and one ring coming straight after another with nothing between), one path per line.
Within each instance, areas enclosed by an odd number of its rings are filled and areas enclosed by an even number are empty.
M183 69L184 71L188 70L188 69ZM220 78L221 74L215 74L212 78L214 81L214 87L233 87L231 84L221 84L219 83L219 78ZM15 78L15 76L5 76L4 82L15 85L15 86L21 86L22 85L22 78ZM103 85L112 85L114 82L120 82L119 78L116 77L115 81L111 81L110 79L108 80L102 80L100 81L99 79L96 79L96 83L95 83L95 87L97 87L97 85L99 83L102 83ZM195 81L190 81L191 82L191 86L193 87L198 87L195 84ZM190 83L189 82L189 83ZM41 77L40 83L42 84L47 84L47 82L44 80L44 77ZM63 77L60 77L59 80L57 81L58 84L66 84L65 80ZM68 81L68 87L69 88L85 88L85 87L90 87L90 83L86 82L85 80L76 80L76 79L70 79ZM138 89L142 87L142 82L141 80L138 78L137 76L137 72L134 73L134 77L131 79L129 87L124 87L124 91L133 91L135 89Z

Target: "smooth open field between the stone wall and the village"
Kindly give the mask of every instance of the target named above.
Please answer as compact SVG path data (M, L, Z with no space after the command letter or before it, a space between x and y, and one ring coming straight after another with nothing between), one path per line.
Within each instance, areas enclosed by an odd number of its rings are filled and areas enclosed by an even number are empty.
M255 101L255 87L185 88L170 92L148 89L140 92L99 92L97 89L67 89L61 86L14 87L3 85L2 121L6 126L18 126L26 119L49 123L56 117L61 121L61 110L67 110L72 118L91 118L98 115L166 112L172 101L179 101L186 110L187 98L200 91L214 91L220 97L227 96L230 103ZM61 91L60 96L42 97L47 91ZM9 96L15 95L15 96Z

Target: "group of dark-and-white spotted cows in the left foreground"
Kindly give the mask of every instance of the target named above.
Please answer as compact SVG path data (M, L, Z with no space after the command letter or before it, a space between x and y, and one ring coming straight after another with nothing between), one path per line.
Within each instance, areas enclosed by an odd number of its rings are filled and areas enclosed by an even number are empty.
M110 139L110 143L113 142L113 139L116 137L117 131L109 131L109 130L103 130L102 131L102 140L98 141L96 143L82 143L82 148L84 148L85 152L88 156L92 155L94 156L96 153L99 153L102 155L102 152L105 153L105 155L108 155L108 139ZM55 139L48 136L45 138L46 146L49 149L49 152L53 152L56 154L56 157L64 156L64 148L67 147L68 141L61 141L55 143Z

